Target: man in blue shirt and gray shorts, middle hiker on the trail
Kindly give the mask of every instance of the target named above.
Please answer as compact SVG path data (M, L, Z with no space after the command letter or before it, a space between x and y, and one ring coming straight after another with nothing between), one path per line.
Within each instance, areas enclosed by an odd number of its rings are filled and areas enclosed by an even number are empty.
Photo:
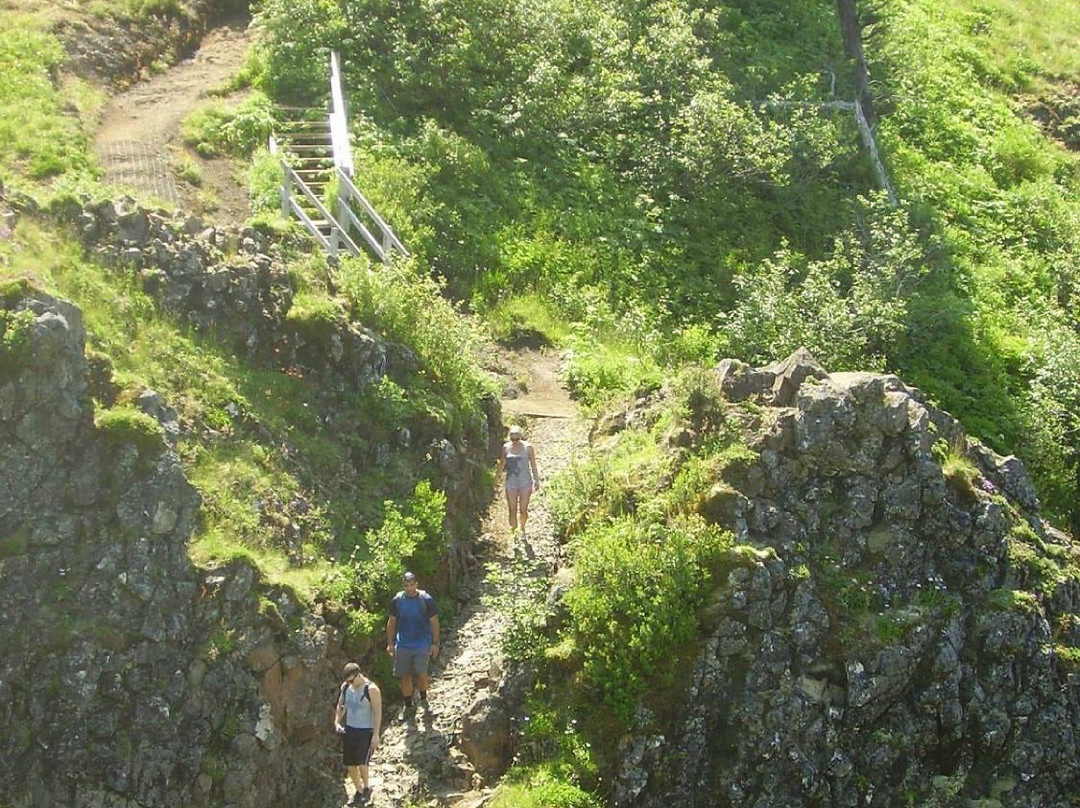
M419 588L413 573L402 577L404 590L390 602L387 619L387 654L394 658L394 676L405 697L405 715L411 716L413 677L420 693L420 706L428 706L428 662L438 656L438 614L435 598Z

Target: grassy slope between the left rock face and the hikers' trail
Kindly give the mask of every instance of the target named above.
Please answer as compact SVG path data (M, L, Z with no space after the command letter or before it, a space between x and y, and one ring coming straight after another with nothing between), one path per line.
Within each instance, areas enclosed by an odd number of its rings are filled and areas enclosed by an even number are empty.
M103 2L93 13L138 25L144 5ZM45 206L72 192L111 196L87 152L103 94L64 73L64 49L52 32L64 12L51 3L0 8L0 178L9 193ZM342 315L342 301L322 284L326 271L318 258L291 266L299 292L293 327L310 322L318 329L325 312ZM445 541L441 520L430 515L443 513L444 500L423 485L414 490L431 476L426 447L391 453L379 468L362 458L402 428L416 441L457 440L475 429L489 388L474 364L478 333L433 284L407 267L378 277L366 261L342 268L350 308L416 356L415 368L361 394L297 368L239 361L229 346L159 313L123 270L87 260L48 218L24 214L0 242L0 280L19 277L83 309L89 347L111 368L121 404L150 388L177 408L179 452L205 500L194 561L247 555L301 596L361 609L381 608L382 588L409 557L430 566L428 556ZM367 470L357 473L356 463ZM393 521L383 527L388 514ZM396 529L403 520L409 535Z

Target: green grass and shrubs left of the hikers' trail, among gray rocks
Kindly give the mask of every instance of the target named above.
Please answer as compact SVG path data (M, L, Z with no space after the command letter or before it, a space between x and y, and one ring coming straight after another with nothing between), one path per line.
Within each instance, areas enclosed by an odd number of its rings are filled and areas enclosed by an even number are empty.
M471 535L478 503L489 496L486 472L465 479L437 462L444 444L462 453L456 462L475 464L470 453L486 458L495 390L478 365L486 341L438 284L411 266L374 272L366 260L349 262L330 295L326 261L272 217L243 237L274 244L270 283L280 310L248 315L269 315L279 331L258 355L237 344L228 323L200 328L184 312L165 311L160 294L118 252L85 248L69 212L97 210L100 200L131 189L105 185L89 148L108 77L66 72L65 42L82 41L90 30L147 29L163 49L159 58L175 58L205 29L212 8L0 10L0 179L8 200L0 212L14 210L0 220L0 281L12 289L4 300L13 305L22 279L29 279L83 310L102 425L137 420L132 404L146 390L175 407L177 450L203 496L191 544L197 563L251 558L269 583L346 610L353 642L363 647L404 566L434 574L447 548ZM265 107L256 97L251 125L239 125L235 111L200 112L191 129L208 129L220 148L249 153L264 139ZM181 232L183 216L171 227L171 239L190 238ZM224 234L217 247L188 248L205 254L207 270L225 278L244 262L240 241ZM13 361L21 324L6 313L0 320L2 355ZM372 385L321 372L330 344L356 326L389 354Z

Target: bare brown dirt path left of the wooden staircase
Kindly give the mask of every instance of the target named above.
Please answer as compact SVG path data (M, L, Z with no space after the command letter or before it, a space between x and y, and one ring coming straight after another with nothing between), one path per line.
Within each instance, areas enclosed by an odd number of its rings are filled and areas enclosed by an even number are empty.
M140 201L213 214L219 224L251 216L247 191L237 178L233 161L203 159L180 140L180 123L240 70L249 42L247 17L226 19L207 32L189 58L114 96L94 137L94 153L106 179L130 187ZM241 98L235 94L221 103L231 106ZM174 166L180 162L194 166L197 184L177 178Z

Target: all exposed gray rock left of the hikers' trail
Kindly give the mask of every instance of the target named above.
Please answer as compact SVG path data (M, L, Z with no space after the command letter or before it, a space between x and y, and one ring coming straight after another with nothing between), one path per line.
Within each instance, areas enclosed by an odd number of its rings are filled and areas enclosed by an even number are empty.
M345 312L297 317L279 246L257 229L130 200L51 213L118 283L251 366L352 401L417 361ZM21 216L42 212L0 198L0 238ZM207 427L181 422L152 390L123 391L132 406L95 421L93 400L111 406L121 391L84 340L77 307L30 281L0 284L0 805L340 804L327 693L343 611L305 606L244 561L192 565L200 497L176 442ZM491 404L480 434L410 423L354 457L356 472L404 455L433 461L448 508L469 509ZM235 428L261 429L226 409ZM276 506L288 515L308 503ZM460 575L457 541L431 585Z

